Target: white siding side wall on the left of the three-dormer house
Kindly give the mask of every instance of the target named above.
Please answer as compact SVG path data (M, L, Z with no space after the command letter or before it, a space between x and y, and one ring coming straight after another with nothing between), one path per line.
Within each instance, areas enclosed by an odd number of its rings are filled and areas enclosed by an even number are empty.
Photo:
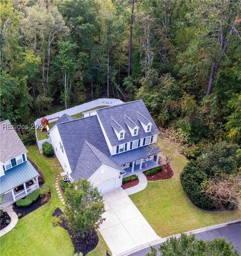
M64 152L62 152L62 150L60 148L59 142L61 142L62 145L63 145L63 142L61 140L57 125L55 125L55 127L53 127L53 129L50 131L50 138L51 138L51 144L54 149L54 153L55 153L56 157L58 158L60 164L62 165L64 171L66 172L66 174L67 174L67 172L68 172L68 174L71 174L72 170L70 168L69 161L68 161L67 155L65 153L65 149L64 149Z

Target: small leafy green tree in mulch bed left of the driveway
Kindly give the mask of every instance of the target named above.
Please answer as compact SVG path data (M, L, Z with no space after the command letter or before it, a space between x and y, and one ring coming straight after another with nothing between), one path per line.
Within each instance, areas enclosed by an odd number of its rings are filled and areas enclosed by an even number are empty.
M64 194L64 217L76 235L84 237L105 220L103 197L86 179L72 182Z

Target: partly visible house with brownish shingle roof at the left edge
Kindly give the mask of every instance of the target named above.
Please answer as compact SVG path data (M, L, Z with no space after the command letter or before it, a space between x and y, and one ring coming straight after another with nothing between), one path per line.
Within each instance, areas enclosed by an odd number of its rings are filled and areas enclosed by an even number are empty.
M0 208L39 188L39 173L28 161L28 150L9 120L0 122Z

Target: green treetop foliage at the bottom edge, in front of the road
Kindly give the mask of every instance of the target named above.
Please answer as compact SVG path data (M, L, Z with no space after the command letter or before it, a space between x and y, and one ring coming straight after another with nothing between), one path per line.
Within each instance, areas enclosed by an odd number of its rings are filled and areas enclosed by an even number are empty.
M233 250L233 245L226 242L225 238L216 238L213 241L197 240L195 235L181 234L180 238L171 237L158 247L151 247L151 252L146 256L238 256L238 251Z

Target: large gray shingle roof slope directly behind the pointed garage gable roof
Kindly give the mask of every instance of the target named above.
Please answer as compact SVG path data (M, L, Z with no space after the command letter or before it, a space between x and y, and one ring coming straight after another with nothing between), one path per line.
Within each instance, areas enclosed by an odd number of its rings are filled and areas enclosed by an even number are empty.
M85 141L88 141L105 155L109 155L109 149L100 128L97 116L58 123L57 127L72 172L76 168L81 149ZM90 159L89 162L91 162Z

